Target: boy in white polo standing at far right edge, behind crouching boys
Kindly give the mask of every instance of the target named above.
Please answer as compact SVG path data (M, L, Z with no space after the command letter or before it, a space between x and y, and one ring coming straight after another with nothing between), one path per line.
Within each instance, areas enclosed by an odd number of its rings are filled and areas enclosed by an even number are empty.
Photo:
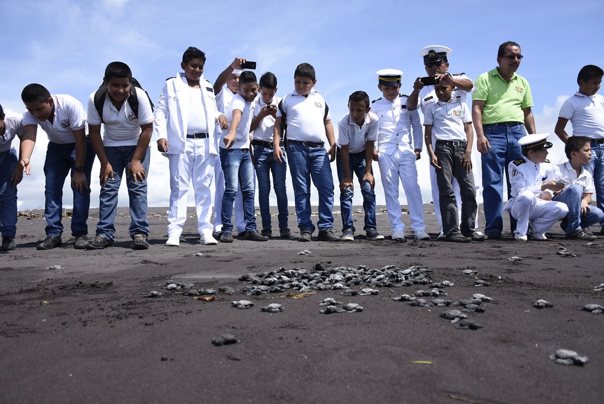
M573 136L591 138L591 160L585 168L590 171L596 186L596 201L604 210L604 97L597 94L604 71L594 65L581 68L577 76L579 91L567 99L558 115L554 132L566 143L567 122L573 125ZM604 235L604 221L600 222L600 234Z

